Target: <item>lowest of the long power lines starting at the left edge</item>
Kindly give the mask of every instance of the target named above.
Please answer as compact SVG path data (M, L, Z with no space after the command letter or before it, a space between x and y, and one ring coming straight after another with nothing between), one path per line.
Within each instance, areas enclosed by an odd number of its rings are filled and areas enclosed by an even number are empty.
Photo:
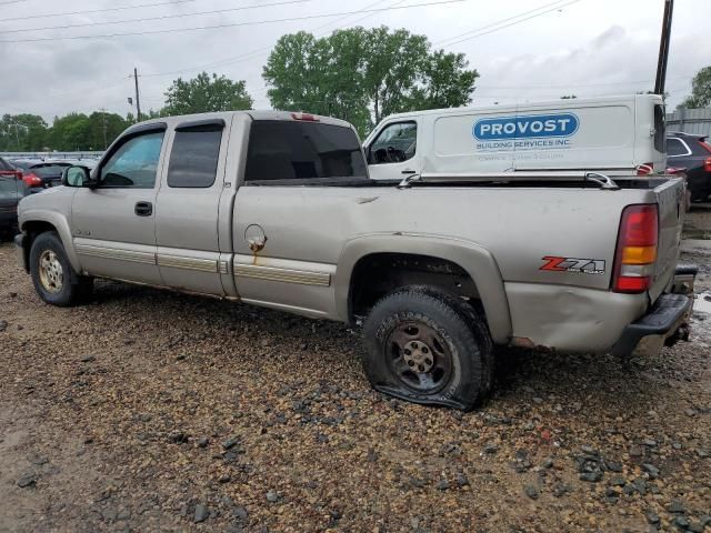
M468 0L440 0L433 2L423 2L423 3L412 3L409 6L398 6L391 8L377 8L377 9L368 9L368 10L358 10L358 11L343 11L340 13L323 13L323 14L309 14L303 17L289 17L283 19L269 19L269 20L257 20L253 22L230 22L222 24L211 24L211 26L197 26L191 28L171 28L167 30L149 30L149 31L130 31L124 33L106 33L98 36L72 36L72 37L40 37L34 39L10 39L10 40L0 40L0 43L11 43L11 42L40 42L40 41L71 41L71 40L80 40L80 39L107 39L114 37L132 37L132 36L148 36L148 34L159 34L159 33L174 33L174 32L186 32L186 31L201 31L201 30L214 30L220 28L237 28L244 26L261 26L261 24L270 24L277 22L296 22L299 20L311 20L311 19L326 19L329 17L342 17L347 14L360 14L364 12L383 12L383 11L392 11L392 10L401 10L401 9L411 9L411 8L423 8L427 6L444 6L450 3L460 3L465 2ZM574 0L580 1L580 0Z

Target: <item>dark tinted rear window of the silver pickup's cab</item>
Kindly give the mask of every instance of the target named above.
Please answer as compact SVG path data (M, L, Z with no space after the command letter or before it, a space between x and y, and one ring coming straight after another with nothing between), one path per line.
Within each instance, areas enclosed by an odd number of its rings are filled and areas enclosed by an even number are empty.
M258 120L252 123L244 180L368 178L358 135L318 122Z

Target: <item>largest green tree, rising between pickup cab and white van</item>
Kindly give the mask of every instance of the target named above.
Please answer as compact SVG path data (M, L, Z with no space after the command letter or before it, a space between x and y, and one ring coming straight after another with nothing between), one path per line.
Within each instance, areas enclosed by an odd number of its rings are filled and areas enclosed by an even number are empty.
M463 54L431 51L424 36L351 28L283 36L262 77L272 107L338 117L363 134L392 113L470 103L479 74L468 67Z

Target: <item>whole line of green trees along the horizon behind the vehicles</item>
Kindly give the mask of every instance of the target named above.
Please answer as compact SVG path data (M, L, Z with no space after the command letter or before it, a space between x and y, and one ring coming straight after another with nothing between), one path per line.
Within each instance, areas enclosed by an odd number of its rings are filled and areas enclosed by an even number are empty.
M471 103L479 73L464 54L433 49L425 36L385 27L351 28L317 38L306 31L282 36L262 69L271 107L347 120L365 135L392 113ZM141 119L252 109L243 80L202 72L178 78L159 110ZM573 94L562 98L577 98ZM701 69L682 105L711 105L711 67ZM136 122L129 113L94 111L56 117L0 119L0 151L103 150Z

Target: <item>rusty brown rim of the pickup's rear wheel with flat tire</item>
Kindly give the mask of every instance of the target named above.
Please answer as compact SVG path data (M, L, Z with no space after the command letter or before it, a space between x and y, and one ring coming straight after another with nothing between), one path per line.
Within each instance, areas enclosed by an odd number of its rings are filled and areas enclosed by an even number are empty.
M432 394L449 382L452 354L434 328L422 322L400 324L389 335L385 346L392 375L408 389Z

